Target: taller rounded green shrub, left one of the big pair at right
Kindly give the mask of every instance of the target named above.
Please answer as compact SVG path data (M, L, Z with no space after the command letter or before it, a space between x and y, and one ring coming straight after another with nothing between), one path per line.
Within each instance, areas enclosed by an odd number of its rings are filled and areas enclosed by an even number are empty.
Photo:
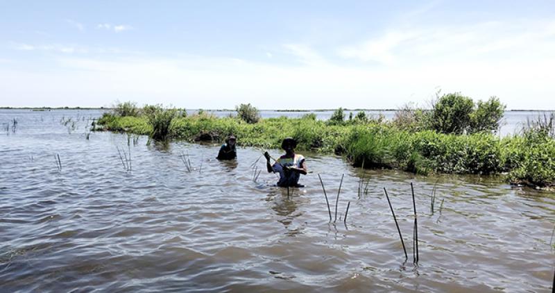
M461 134L470 126L474 103L459 93L444 94L432 108L432 128L441 133Z

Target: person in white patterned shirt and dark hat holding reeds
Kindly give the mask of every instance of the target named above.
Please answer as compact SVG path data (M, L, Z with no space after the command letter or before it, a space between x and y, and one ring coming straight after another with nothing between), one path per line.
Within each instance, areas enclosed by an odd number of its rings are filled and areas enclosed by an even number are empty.
M270 154L267 151L264 153L268 173L278 172L280 174L280 181L278 181L280 187L300 186L298 185L300 174L307 174L305 157L295 153L296 147L296 140L291 137L285 138L282 141L282 149L285 154L275 160L273 165L270 163Z

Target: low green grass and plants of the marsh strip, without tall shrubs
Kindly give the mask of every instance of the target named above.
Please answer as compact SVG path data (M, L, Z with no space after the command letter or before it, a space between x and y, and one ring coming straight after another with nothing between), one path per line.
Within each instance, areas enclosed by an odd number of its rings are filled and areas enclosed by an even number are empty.
M152 123L146 115L105 115L99 124L110 131L149 135ZM248 124L237 117L176 115L168 137L221 142L227 135L238 137L242 146L280 147L284 137L298 140L298 150L336 153L355 166L391 168L418 174L504 174L515 184L538 187L555 185L555 140L531 131L499 138L491 133L464 135L437 131L403 130L394 123L353 119L332 124L314 115L260 119Z

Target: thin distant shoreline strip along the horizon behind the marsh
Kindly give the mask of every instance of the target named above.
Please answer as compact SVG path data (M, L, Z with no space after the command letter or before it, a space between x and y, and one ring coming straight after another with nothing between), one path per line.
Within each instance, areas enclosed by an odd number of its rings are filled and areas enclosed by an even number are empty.
M31 111L49 111L49 110L112 110L114 108L106 107L0 107L0 110L31 110ZM187 109L185 109L187 110ZM200 110L200 109L189 109ZM234 112L234 109L202 109L210 112ZM313 109L313 110L295 110L295 109L260 109L259 111L273 111L273 112L332 112L336 109ZM345 111L373 111L373 112L395 112L398 109L348 109L343 108ZM538 110L538 109L512 109L505 110L505 112L555 112L555 110Z

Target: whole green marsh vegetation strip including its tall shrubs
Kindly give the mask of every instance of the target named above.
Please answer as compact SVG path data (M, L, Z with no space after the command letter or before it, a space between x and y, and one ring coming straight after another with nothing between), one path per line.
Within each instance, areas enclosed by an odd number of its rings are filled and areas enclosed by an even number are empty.
M506 174L513 184L555 186L555 116L551 121L544 117L529 122L519 135L500 138L492 129L499 126L499 111L504 110L497 98L477 104L459 94L441 99L445 101L432 110L402 108L391 122L366 117L364 112L345 119L341 108L328 121L316 120L309 113L254 122L246 117L259 117L256 108L241 105L237 116L221 118L202 111L187 116L173 108L145 106L137 116L123 116L124 111L107 113L98 124L104 130L146 134L154 140L221 141L234 134L238 145L274 149L284 137L294 137L300 151L336 153L356 167L418 174ZM250 114L241 114L245 109ZM441 116L441 123L432 123Z

